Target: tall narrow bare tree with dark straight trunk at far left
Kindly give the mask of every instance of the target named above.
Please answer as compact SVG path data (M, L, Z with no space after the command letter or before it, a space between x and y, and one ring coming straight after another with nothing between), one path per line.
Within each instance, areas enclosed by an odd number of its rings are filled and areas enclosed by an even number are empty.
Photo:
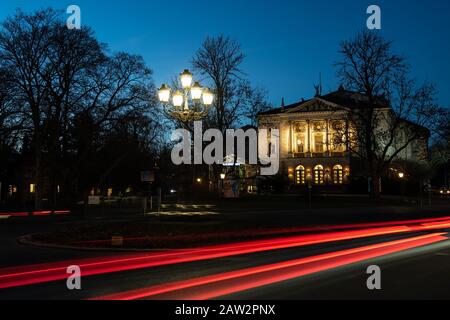
M107 57L103 46L94 38L93 32L84 27L69 30L63 23L50 28L46 73L42 75L48 90L44 114L46 164L50 196L56 203L58 190L67 190L70 166L67 165L69 129L73 114L80 107L79 100L88 94L85 82Z

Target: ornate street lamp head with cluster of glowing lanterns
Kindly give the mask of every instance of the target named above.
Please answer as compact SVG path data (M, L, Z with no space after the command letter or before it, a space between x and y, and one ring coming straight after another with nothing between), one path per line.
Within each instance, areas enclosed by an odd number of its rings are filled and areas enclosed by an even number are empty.
M180 74L180 83L182 90L176 90L173 94L167 84L163 84L158 90L159 101L163 104L165 113L182 122L205 118L214 102L214 94L199 82L192 84L193 76L189 70Z

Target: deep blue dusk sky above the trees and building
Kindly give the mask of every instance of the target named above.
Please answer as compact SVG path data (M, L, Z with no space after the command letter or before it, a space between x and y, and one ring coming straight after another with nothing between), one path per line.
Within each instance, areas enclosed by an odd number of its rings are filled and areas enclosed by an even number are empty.
M409 57L421 81L433 81L439 102L450 106L450 1L448 0L8 0L0 20L16 8L31 11L76 4L82 24L91 26L113 51L144 56L156 85L189 67L207 35L238 40L247 56L244 71L279 105L314 94L322 72L324 91L338 87L333 62L341 40L366 26L366 9L382 9L382 33Z

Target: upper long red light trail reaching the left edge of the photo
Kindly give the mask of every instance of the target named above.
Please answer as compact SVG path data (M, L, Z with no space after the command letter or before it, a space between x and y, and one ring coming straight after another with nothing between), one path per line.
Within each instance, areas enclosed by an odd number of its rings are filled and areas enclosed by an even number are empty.
M413 223L410 225L408 221L403 221L400 222L403 225L398 226L306 234L206 246L195 249L127 254L72 262L62 261L40 265L9 267L0 269L0 289L66 279L68 276L66 268L70 265L80 266L83 276L92 276L351 239L450 228L450 220L439 218L434 221L436 222L433 224L433 220L427 219L425 224L417 224L417 220L413 220Z

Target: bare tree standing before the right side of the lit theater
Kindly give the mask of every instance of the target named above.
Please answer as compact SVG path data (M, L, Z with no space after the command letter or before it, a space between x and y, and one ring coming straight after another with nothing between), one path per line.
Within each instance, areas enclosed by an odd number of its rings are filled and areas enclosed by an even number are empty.
M374 197L381 176L409 146L424 146L439 116L432 84L417 86L406 59L392 53L392 44L378 33L363 31L340 47L337 74L361 105L348 110L348 126L337 135L367 165ZM344 141L346 139L346 141ZM423 148L422 148L423 149Z

